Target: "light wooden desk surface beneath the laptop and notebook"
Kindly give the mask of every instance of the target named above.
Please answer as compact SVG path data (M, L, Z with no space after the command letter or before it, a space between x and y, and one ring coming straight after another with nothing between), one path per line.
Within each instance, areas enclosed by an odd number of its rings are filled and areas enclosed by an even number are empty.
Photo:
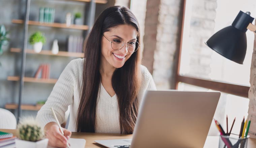
M2 132L12 133L17 136L17 130L0 129ZM86 140L86 148L105 148L97 143L95 140L108 140L108 139L131 139L132 135L122 135L122 134L100 134L100 133L78 133L72 132L71 138L80 138ZM204 148L218 148L219 137L218 136L208 136L204 144ZM249 138L247 148L255 148L256 139Z

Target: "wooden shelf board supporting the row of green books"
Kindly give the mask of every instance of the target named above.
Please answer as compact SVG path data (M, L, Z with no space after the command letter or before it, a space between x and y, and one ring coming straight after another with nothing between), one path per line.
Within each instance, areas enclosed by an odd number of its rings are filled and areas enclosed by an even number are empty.
M23 20L12 20L11 23L23 24ZM56 28L68 28L68 29L78 29L78 30L88 30L89 29L89 27L87 25L71 24L69 27L67 27L66 24L61 24L61 23L41 23L41 22L37 22L37 21L28 21L28 25L56 27Z

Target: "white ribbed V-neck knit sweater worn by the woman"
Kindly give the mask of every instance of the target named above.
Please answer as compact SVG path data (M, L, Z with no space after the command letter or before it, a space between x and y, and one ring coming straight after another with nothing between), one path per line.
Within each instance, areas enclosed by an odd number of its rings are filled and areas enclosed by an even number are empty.
M38 111L36 119L44 127L49 122L56 122L51 107L54 108L60 123L64 122L65 112L70 106L68 130L76 132L76 115L81 99L82 74L84 59L72 60L61 73L45 105ZM138 94L141 103L146 90L155 90L154 80L145 66L141 65L142 81ZM120 133L117 96L111 97L100 83L100 92L96 107L96 133Z

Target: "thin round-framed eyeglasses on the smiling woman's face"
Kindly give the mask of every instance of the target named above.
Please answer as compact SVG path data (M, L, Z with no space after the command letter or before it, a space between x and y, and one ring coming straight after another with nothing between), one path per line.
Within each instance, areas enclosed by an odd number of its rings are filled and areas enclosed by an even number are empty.
M103 35L104 36L104 35ZM105 37L105 36L104 36ZM106 37L105 37L106 38ZM107 38L106 38L107 39ZM124 46L124 41L121 39L113 39L112 41L110 41L109 39L107 39L110 43L111 43L111 47L114 50L120 50L123 46ZM131 41L129 43L126 43L126 47L128 49L129 52L135 52L138 50L139 48L139 42L135 42L135 41Z

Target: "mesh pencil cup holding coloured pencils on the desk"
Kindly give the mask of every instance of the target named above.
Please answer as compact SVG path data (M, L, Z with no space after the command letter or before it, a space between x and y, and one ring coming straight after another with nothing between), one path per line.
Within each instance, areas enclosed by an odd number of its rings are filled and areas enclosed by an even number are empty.
M246 138L236 138L220 135L219 148L247 148L249 136Z

